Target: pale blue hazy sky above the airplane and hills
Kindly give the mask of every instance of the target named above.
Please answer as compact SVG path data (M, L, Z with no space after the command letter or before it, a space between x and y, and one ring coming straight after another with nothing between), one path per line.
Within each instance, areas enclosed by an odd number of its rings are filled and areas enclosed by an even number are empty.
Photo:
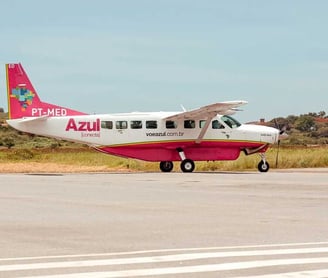
M87 113L247 100L241 122L328 113L328 1L11 0L4 64L40 97Z

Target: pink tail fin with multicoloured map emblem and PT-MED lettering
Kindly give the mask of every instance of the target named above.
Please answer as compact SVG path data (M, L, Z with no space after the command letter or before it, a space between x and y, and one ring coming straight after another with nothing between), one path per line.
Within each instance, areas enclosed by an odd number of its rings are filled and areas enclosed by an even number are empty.
M9 119L86 115L42 102L21 64L6 64L6 74Z

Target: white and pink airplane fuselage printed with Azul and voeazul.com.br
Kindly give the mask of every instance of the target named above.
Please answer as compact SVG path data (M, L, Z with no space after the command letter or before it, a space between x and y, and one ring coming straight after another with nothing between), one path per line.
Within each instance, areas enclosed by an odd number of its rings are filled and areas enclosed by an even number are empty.
M179 161L179 149L195 161L235 160L240 151L265 151L279 131L240 125L229 116L216 116L202 138L206 119L165 120L177 112L124 113L8 120L23 132L88 144L95 149L146 161Z

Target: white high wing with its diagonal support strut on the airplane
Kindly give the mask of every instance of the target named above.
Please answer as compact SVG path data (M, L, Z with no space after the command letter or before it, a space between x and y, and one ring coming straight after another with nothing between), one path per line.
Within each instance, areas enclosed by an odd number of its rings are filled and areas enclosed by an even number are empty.
M237 101L225 101L225 102L218 102L218 103L213 103L209 104L203 107L200 107L198 109L190 110L190 111L184 111L169 117L166 117L164 120L171 120L171 121L177 121L177 120L188 120L188 119L193 119L193 120L206 120L206 124L203 126L201 129L197 139L195 142L199 144L210 123L211 120L218 114L220 115L232 115L236 113L237 108L239 106L247 104L247 101L244 100L237 100Z

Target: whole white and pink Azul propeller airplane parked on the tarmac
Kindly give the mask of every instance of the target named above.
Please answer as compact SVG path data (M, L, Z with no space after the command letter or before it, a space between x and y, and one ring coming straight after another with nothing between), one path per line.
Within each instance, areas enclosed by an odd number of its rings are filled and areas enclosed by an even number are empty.
M259 153L258 169L269 170L268 147L279 130L242 125L230 115L246 101L219 102L182 112L88 115L42 102L21 64L7 64L8 124L17 130L88 144L103 153L158 161L163 172L181 161L192 172L194 161L235 160L241 151Z

